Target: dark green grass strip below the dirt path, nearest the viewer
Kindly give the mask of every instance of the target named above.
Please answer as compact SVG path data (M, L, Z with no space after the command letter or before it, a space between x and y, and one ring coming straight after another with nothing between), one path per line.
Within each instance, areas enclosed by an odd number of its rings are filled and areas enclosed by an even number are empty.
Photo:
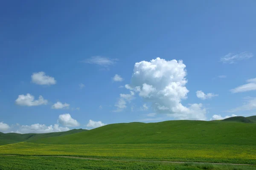
M0 170L255 170L255 166L0 156Z

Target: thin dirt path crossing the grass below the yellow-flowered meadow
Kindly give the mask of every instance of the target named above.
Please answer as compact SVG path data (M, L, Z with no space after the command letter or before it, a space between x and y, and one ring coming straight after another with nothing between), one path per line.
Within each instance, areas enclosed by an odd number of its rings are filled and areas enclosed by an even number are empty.
M24 155L6 155L6 156L24 156ZM26 155L26 156L29 156L29 155ZM82 157L76 157L76 156L44 156L44 155L30 155L30 156L87 159L87 160L103 160L103 161L144 161L144 162L156 162L156 163L164 162L164 163L178 163L178 164L188 163L188 161L184 162L184 161L156 161L156 160L140 160L140 159L101 159L101 158L82 158ZM231 164L231 163L215 163L215 162L192 162L192 163L195 163L195 164L210 163L210 164L250 165L250 166L254 166L253 164Z

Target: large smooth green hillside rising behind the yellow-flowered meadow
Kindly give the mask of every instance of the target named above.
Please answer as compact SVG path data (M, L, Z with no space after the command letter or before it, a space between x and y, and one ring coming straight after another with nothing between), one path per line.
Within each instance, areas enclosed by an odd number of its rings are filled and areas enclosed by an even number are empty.
M44 144L256 144L256 124L227 121L118 123L31 141Z

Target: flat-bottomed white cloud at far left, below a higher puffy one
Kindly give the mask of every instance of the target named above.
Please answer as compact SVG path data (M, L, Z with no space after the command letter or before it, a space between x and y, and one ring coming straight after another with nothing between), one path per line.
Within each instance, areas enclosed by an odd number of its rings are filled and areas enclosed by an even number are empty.
M46 105L48 101L45 100L43 96L39 96L38 100L35 100L35 97L28 93L26 95L19 95L15 102L17 105L22 106L38 106Z

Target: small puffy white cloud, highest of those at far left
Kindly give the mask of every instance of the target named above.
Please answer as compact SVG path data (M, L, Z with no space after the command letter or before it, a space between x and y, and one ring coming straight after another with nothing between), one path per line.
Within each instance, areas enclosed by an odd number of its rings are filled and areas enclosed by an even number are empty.
M32 82L38 85L55 85L56 80L54 77L49 77L45 75L43 71L40 71L38 73L33 73L31 76Z

